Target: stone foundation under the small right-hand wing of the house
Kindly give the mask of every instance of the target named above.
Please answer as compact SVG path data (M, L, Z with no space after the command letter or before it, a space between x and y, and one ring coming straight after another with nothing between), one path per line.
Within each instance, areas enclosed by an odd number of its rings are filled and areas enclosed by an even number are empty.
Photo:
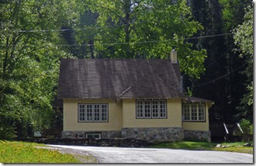
M184 130L184 139L211 142L211 132L209 130Z

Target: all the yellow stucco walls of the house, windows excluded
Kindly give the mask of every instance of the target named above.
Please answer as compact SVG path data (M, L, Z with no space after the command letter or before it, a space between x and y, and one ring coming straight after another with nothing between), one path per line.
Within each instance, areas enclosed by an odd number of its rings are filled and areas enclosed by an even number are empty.
M108 103L109 122L78 123L78 103ZM167 118L137 119L136 100L76 100L64 99L65 130L121 130L123 127L184 127L184 130L209 130L209 105L206 103L206 122L182 122L182 100L167 100Z

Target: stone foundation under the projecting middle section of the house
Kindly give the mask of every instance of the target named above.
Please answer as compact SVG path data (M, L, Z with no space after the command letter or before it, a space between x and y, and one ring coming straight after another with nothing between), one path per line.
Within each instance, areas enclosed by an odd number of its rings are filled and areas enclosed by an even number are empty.
M182 141L184 130L183 127L123 128L122 137L146 141Z

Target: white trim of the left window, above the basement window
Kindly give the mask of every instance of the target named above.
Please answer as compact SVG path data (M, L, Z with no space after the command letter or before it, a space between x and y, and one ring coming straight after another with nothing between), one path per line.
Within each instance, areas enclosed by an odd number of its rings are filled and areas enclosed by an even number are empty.
M81 110L80 106L85 106L85 120L81 120ZM92 120L88 120L88 108L87 106L92 106ZM95 105L99 105L99 120L95 120ZM106 120L102 120L102 105L106 106ZM109 105L107 103L78 103L78 123L102 123L102 122L109 122Z

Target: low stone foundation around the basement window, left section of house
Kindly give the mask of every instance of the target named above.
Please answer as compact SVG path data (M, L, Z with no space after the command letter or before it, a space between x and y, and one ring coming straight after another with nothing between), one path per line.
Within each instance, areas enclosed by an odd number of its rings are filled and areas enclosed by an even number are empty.
M85 134L101 134L102 138L115 138L115 137L121 137L121 131L81 131L81 130L75 130L75 131L69 131L69 130L64 130L61 133L62 138L85 138Z

